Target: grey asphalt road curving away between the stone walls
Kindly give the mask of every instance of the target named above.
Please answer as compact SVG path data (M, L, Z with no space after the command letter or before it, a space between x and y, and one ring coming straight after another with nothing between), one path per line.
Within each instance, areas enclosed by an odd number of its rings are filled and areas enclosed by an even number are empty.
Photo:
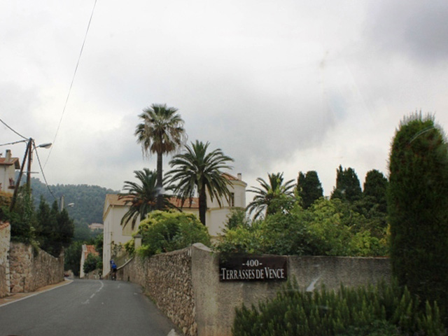
M167 336L169 319L122 281L75 280L66 286L0 306L0 335Z

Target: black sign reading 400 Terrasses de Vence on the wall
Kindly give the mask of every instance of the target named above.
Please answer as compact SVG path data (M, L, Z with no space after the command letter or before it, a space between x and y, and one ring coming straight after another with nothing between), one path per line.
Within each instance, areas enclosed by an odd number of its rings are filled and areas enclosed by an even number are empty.
M245 255L219 261L220 281L286 281L288 258Z

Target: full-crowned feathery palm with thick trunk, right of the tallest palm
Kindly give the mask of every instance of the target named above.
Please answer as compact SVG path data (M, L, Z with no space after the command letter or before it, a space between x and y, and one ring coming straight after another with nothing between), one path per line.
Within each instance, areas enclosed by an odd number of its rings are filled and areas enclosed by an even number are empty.
M211 200L218 200L221 207L222 197L230 200L228 179L223 176L222 169L230 169L228 162L233 159L224 155L220 148L207 153L209 142L204 144L197 141L185 147L185 152L175 155L169 162L173 168L167 174L169 183L177 183L173 186L174 193L179 195L183 202L189 198L190 202L195 195L199 194L199 219L205 225L205 214L207 212L207 193Z

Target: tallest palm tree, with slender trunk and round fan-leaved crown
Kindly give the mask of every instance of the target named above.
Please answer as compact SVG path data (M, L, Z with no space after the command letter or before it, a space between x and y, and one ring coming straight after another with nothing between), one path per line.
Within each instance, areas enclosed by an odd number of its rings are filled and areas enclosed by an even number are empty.
M176 151L186 141L183 119L177 111L174 107L167 107L167 104L151 105L139 115L141 123L137 125L134 134L144 155L157 154L157 209L163 207L162 156Z

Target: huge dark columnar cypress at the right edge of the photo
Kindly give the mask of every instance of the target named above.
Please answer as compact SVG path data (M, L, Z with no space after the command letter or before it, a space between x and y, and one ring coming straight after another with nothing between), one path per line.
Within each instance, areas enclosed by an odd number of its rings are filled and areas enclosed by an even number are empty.
M416 113L395 132L387 192L393 273L426 300L448 302L448 151L433 117Z

